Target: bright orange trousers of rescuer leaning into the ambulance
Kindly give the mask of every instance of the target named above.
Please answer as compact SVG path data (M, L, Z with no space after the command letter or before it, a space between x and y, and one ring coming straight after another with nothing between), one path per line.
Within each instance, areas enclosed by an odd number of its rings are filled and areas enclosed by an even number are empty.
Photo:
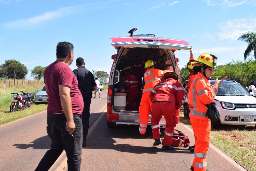
M140 108L139 108L139 113L140 113L140 127L139 131L140 134L145 134L146 133L146 128L148 126L148 119L149 119L149 114L151 112L151 101L149 99L149 93L148 92L143 92L142 98L141 98L141 103L140 103Z

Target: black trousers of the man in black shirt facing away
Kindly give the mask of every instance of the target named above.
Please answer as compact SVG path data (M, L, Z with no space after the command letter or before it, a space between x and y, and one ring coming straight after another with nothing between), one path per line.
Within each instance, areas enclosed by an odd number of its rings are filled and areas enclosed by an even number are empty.
M89 118L90 118L90 104L91 104L91 92L81 92L83 96L83 112L82 112L82 124L83 124L83 142L86 142Z

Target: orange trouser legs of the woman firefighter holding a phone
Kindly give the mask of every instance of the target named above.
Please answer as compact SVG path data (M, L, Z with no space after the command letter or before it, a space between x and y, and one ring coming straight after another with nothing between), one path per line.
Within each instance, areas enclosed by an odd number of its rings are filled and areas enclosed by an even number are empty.
M200 120L190 117L190 122L194 131L195 149L194 149L194 171L206 171L206 155L210 144L210 120Z

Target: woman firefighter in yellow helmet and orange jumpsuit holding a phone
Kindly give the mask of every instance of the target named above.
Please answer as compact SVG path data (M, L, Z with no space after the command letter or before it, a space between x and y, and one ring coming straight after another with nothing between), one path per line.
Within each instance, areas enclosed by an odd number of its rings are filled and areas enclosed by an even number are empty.
M190 122L195 136L194 161L191 170L206 171L206 155L210 143L211 122L207 117L207 108L205 105L210 104L218 93L218 85L226 78L216 79L212 87L208 78L212 74L212 69L216 69L217 58L214 55L204 53L196 60L195 66L199 66L200 72L196 74L191 82L189 89L189 109Z

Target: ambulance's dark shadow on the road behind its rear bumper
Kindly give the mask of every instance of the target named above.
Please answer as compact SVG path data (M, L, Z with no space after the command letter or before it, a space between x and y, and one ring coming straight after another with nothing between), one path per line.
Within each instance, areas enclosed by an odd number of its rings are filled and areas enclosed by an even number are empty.
M86 149L113 149L121 152L135 153L135 154L156 154L159 152L168 152L168 153L191 153L188 148L175 148L174 150L163 151L161 150L162 145L153 146L153 135L150 127L147 128L146 139L152 141L151 147L148 147L148 142L145 146L138 146L137 144L139 139L138 126L126 126L120 125L116 128L107 128L103 125L99 130L92 133L92 135L87 139ZM96 133L97 132L97 133ZM101 133L100 133L101 132ZM118 138L118 142L115 140ZM130 139L130 143L129 143ZM144 139L143 139L144 140ZM125 143L122 143L124 142ZM126 143L128 142L128 143Z

